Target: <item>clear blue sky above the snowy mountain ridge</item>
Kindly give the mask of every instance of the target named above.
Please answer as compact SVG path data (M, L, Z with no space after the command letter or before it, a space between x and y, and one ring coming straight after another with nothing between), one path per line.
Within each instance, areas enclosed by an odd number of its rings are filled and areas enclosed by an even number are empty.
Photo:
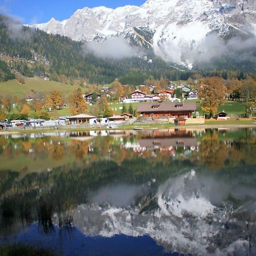
M52 17L68 19L77 9L125 5L141 6L146 0L0 0L0 13L19 17L23 24L44 23Z

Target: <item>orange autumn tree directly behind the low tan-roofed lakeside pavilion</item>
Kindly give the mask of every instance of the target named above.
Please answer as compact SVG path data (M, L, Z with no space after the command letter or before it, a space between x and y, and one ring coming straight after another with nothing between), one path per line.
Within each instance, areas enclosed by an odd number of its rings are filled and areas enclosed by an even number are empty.
M88 110L88 104L85 102L84 97L82 97L82 91L80 88L73 91L70 97L70 103L71 105L69 108L73 115L81 114Z

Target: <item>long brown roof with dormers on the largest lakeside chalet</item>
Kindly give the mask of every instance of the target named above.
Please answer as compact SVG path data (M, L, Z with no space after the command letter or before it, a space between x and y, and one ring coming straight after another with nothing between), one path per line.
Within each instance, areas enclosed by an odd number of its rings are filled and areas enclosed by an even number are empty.
M182 108L177 108L176 105L183 105ZM137 112L184 112L184 111L196 111L196 102L162 102L159 108L152 108L154 104L139 104Z

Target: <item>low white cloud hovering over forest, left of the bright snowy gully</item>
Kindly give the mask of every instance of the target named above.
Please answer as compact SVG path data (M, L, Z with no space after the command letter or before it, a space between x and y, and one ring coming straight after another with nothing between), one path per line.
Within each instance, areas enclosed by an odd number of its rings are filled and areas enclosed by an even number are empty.
M91 52L97 57L113 59L133 57L139 52L138 47L130 46L130 44L121 37L108 38L101 42L88 42L83 47L83 50L86 53Z

